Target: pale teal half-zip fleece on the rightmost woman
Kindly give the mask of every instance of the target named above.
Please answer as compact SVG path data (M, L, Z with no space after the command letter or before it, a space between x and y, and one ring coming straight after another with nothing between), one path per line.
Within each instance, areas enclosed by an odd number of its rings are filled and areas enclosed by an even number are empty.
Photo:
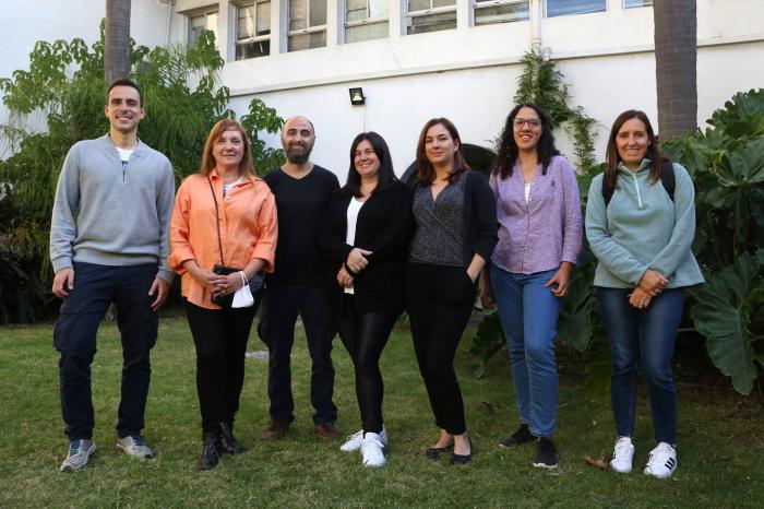
M604 174L592 180L586 203L586 238L597 258L595 286L633 288L652 269L669 279L667 288L703 283L691 247L695 236L695 191L687 169L673 164L673 201L660 180L649 180L649 159L636 171L618 165L616 190L605 206Z

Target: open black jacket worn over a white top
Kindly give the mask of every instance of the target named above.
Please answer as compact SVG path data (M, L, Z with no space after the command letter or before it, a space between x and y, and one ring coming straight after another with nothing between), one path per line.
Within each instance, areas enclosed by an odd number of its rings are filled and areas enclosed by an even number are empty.
M411 191L395 181L372 193L358 213L355 246L345 244L351 198L343 191L334 194L319 235L319 248L327 262L330 310L333 316L342 313L344 289L337 283L337 272L353 248L358 247L372 254L368 257L369 264L354 280L356 309L397 316L404 305L404 272L414 225Z

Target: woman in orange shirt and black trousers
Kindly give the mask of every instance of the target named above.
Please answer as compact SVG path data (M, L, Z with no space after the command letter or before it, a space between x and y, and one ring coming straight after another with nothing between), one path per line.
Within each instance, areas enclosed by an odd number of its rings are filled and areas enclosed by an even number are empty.
M256 311L256 306L222 308L212 297L235 293L261 271L272 272L276 235L275 200L254 176L249 138L236 120L220 120L204 145L199 174L178 189L170 222L169 263L182 276L196 346L204 438L200 470L217 465L223 452L243 452L234 437L234 416ZM218 275L212 270L216 264L241 269Z

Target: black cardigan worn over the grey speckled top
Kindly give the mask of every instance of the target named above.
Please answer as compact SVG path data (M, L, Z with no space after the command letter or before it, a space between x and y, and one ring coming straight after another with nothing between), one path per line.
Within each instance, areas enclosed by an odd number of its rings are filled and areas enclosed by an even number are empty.
M482 174L468 170L464 178L464 267L469 267L475 253L486 263L491 261L493 248L499 241L499 223L493 190ZM415 187L420 187L417 184Z

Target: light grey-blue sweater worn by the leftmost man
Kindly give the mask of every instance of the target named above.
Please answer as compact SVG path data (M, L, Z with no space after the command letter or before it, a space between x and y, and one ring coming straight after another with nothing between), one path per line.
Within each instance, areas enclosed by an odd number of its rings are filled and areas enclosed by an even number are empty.
M167 265L175 177L167 157L140 142L124 167L109 135L75 143L56 188L50 261L56 272L73 261L100 265Z

